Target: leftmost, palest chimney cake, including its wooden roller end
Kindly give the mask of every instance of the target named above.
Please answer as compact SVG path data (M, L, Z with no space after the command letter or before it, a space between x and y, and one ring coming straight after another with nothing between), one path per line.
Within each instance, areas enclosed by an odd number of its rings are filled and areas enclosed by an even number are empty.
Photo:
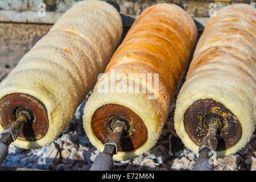
M121 16L112 5L76 3L2 81L0 131L23 107L33 118L13 144L38 148L56 139L104 71L121 35Z

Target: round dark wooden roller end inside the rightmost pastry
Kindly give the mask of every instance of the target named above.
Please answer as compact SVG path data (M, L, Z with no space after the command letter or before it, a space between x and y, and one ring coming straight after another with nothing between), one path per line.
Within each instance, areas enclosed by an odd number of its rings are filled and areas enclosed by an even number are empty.
M185 111L185 130L193 142L200 146L208 130L203 121L210 115L217 116L222 121L222 127L218 129L216 135L218 141L216 151L226 150L239 142L242 136L242 126L236 115L211 98L197 100Z

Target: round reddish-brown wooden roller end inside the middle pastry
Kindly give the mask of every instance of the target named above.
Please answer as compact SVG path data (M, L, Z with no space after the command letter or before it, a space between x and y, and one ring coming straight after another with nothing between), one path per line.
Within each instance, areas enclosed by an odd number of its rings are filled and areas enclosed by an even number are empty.
M122 134L121 146L118 151L133 151L147 141L147 127L134 111L122 105L108 104L97 109L92 117L93 132L103 144L112 133L112 124L116 119L128 122L130 126Z

